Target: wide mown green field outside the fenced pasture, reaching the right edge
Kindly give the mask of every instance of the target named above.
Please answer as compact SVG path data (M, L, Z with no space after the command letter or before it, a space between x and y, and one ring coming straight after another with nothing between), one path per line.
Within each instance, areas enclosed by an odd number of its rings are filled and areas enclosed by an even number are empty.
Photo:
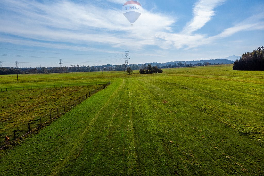
M30 75L30 82L42 76L111 85L15 150L0 151L3 175L264 174L263 72L220 65ZM14 87L8 79L3 84Z

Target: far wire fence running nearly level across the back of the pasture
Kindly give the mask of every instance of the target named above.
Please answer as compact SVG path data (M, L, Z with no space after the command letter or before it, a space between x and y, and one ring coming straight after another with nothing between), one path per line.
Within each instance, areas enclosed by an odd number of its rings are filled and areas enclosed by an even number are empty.
M7 91L21 91L21 90L34 90L34 89L48 89L48 88L63 88L63 87L77 87L77 86L90 86L90 85L104 85L107 82L91 82L91 83L63 83L63 84L47 84L47 85L25 85L19 87L2 87L1 92Z

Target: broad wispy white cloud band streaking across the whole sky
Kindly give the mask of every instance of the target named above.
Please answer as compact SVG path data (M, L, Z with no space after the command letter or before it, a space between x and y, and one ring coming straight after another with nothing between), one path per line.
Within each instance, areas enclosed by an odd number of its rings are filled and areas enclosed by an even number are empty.
M99 1L99 0L98 0ZM114 0L122 3L122 0ZM71 1L40 3L37 1L2 0L0 2L0 34L2 41L65 47L79 50L103 45L112 48L142 50L152 45L160 49L195 48L210 44L243 30L263 30L263 13L225 29L216 36L194 33L215 15L214 9L225 0L200 0L194 4L194 17L181 32L173 32L177 17L165 13L144 11L133 27L122 15L121 8L102 7L96 3ZM10 39L12 35L12 40ZM54 44L56 43L56 44ZM60 45L60 46L59 46ZM84 45L81 47L81 45Z

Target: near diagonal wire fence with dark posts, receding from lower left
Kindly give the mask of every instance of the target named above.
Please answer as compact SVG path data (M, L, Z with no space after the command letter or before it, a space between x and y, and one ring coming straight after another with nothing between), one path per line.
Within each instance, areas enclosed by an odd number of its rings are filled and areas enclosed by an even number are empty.
M92 91L87 92L85 95L82 95L80 97L75 98L72 101L64 103L63 106L57 107L53 111L50 111L49 113L41 117L35 118L34 120L30 120L24 127L13 130L12 134L6 134L6 135L0 134L0 136L2 136L1 138L3 139L2 141L0 141L0 146L1 146L0 150L6 148L8 145L32 133L33 131L37 131L41 129L43 126L48 125L55 118L59 117L60 115L63 115L65 112L69 111L72 107L86 100L87 98L95 94L96 92L107 88L107 86L110 83L111 82L106 82L105 84L99 85L96 89L93 89ZM4 141L5 136L8 136L10 139L8 143Z

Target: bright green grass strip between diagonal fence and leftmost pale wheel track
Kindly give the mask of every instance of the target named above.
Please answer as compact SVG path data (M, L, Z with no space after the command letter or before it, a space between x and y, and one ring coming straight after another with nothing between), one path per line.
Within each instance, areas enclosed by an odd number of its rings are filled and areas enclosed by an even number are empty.
M83 113L88 111L96 114L98 109L95 107L103 106L105 101L108 100L107 97L110 96L111 91L113 91L112 87L115 88L115 86L109 86L105 91L99 91L82 104L74 107L72 111L69 111L63 118L59 118L50 126L45 127L39 134L27 138L20 146L16 147L16 150L1 151L11 156L12 159L9 158L9 161L14 165L14 167L10 168L10 170L6 170L3 174L50 174L54 169L53 167L69 155L70 149L76 142L80 142L78 140L79 135L82 134L90 120L89 115L83 116ZM108 89L110 92L107 91ZM57 124L58 127L55 124ZM48 144L45 144L46 142ZM64 145L67 146L63 147ZM5 157L7 155L4 154L4 157L1 157L1 163L4 163L2 161L6 159ZM41 159L40 157L44 158ZM35 162L35 159L37 159L38 162ZM25 160L27 160L27 162L25 162ZM20 163L24 164L19 166ZM8 166L10 163L6 164ZM26 169L29 167L32 167L32 169ZM5 168L8 167L5 167L5 164L3 164L0 170L5 170Z

